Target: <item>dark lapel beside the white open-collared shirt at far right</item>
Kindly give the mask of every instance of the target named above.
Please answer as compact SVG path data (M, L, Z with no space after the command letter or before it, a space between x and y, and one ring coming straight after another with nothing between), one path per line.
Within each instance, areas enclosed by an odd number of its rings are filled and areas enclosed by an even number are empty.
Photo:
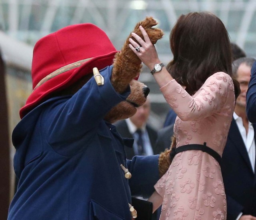
M230 141L234 144L238 152L242 155L242 158L245 160L246 164L248 165L249 169L253 173L252 165L250 162L250 158L248 156L248 152L246 150L246 146L244 145L244 141L242 139L242 136L239 132L238 126L236 124L236 121L234 118L232 119L231 125L230 125Z

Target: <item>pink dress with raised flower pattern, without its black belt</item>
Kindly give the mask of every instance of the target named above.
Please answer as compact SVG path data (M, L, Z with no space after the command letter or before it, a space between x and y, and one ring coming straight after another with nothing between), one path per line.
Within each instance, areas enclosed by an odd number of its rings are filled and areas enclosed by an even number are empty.
M206 142L221 156L235 106L230 76L213 74L193 96L176 80L160 90L178 115L174 125L176 147ZM220 165L206 152L176 154L155 189L163 197L160 220L226 220Z

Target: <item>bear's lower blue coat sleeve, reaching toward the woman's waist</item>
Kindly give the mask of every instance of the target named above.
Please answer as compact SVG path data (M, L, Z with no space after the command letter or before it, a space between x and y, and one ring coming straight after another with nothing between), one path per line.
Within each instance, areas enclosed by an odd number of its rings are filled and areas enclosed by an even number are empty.
M126 161L132 174L129 180L132 196L148 198L154 192L154 185L159 180L158 158L159 155L134 156Z

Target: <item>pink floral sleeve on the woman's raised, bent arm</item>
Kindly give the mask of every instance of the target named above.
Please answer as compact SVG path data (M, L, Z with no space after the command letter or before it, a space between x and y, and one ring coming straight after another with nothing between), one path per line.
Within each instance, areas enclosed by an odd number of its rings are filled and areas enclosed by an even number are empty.
M190 96L174 79L160 90L181 120L194 121L218 112L224 106L229 90L234 93L234 85L228 74L217 72L206 80L194 96Z

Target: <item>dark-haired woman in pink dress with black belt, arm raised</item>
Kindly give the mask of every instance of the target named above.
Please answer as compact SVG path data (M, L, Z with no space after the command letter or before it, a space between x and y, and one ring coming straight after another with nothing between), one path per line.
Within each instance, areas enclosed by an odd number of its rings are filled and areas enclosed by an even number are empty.
M149 201L160 220L225 220L226 195L219 161L239 85L232 80L228 33L214 14L180 16L170 34L174 55L168 71L146 31L130 48L148 66L176 112L176 154ZM235 86L234 86L235 85Z

